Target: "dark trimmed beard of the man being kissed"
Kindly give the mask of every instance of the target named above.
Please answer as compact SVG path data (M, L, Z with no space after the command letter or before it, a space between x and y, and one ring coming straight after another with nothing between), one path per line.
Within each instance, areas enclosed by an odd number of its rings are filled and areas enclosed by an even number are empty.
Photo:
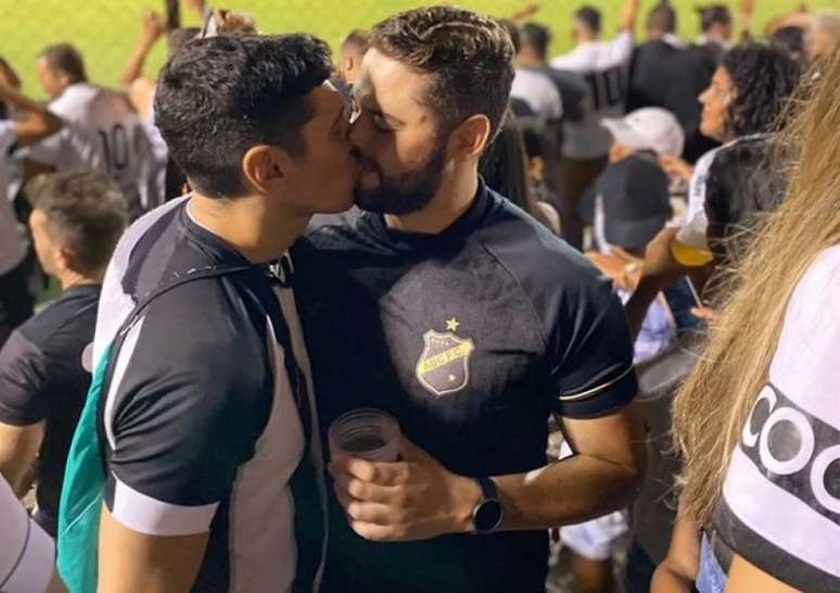
M366 189L357 184L354 189L356 205L380 214L410 214L424 209L441 188L446 143L436 142L423 164L398 175L385 175L377 163L364 155L359 155L359 160L377 171L379 186Z

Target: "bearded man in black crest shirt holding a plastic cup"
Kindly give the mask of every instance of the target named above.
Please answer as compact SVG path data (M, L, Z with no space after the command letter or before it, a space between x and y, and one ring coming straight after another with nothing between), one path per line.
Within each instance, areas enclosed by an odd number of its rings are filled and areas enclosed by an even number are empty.
M332 458L324 591L542 592L547 528L626 504L642 472L619 301L476 173L512 59L468 11L379 24L349 136L367 212L295 247L322 427L376 407L404 434L397 462ZM576 455L546 466L551 414Z

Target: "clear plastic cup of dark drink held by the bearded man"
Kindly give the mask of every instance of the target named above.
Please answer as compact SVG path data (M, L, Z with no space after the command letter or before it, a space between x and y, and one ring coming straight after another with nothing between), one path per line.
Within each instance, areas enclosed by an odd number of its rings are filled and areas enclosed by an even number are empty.
M343 453L369 462L399 458L399 424L391 414L359 408L342 414L328 431L330 454Z

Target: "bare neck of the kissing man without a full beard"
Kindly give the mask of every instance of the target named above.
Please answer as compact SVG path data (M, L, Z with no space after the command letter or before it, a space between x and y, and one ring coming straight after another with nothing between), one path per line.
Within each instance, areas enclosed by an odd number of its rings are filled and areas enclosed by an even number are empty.
M193 193L188 207L201 226L252 264L277 260L303 234L310 214L269 209L272 198L207 198Z

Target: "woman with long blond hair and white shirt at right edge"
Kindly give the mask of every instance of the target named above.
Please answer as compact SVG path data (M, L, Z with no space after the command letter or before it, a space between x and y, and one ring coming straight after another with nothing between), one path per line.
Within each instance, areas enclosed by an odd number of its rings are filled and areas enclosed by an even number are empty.
M840 52L824 66L781 138L787 195L674 404L680 518L654 593L840 591Z

